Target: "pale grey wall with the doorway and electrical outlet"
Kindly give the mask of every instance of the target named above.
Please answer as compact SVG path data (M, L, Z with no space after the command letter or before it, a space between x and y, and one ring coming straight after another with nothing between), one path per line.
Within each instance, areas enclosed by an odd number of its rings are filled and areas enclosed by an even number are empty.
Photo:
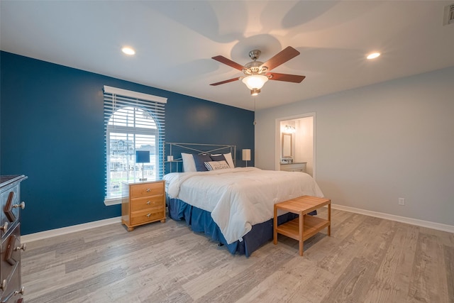
M310 112L333 204L454 226L454 67L258 111L255 166L275 169L277 119Z

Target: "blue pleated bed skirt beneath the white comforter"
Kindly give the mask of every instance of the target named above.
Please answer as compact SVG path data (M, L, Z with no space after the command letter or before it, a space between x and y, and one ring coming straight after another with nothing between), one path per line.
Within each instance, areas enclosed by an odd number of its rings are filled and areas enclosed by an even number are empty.
M214 241L223 243L232 254L239 253L249 257L260 246L272 240L273 219L254 225L243 236L243 241L227 244L226 239L221 233L221 229L214 223L209 211L204 211L179 199L167 199L167 207L170 218L177 221L186 221L187 225L191 226L192 231L204 232L206 236L209 236ZM277 225L293 220L296 217L297 214L283 214L277 218Z

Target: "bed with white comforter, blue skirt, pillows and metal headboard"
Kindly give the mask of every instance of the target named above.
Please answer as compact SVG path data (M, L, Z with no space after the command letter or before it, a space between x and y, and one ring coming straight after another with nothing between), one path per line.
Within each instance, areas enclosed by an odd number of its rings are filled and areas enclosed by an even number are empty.
M235 167L235 145L193 144L192 153L184 153L184 143L167 144L172 144L173 153L167 164L178 167L182 162L182 170L163 178L170 218L186 221L193 231L205 233L233 254L248 257L272 240L275 203L304 194L323 197L306 173ZM231 151L223 152L221 146ZM278 224L295 217L279 214Z

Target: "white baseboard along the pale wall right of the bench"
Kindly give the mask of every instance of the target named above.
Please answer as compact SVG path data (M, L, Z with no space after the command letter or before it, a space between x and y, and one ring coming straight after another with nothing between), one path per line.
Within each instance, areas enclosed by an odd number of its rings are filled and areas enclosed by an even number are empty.
M435 223L435 222L431 222L431 221L423 221L423 220L419 220L419 219L411 219L411 218L407 218L405 216L395 216L393 214L384 214L384 213L377 212L377 211L367 211L365 209L356 209L355 207L343 206L343 205L338 205L338 204L331 204L331 208L339 209L341 211L349 211L349 212L353 212L356 214L365 214L366 216L375 216L375 217L381 218L381 219L398 221L398 222L416 225L416 226L433 228L433 229L437 229L438 231L448 231L449 233L454 233L454 226L452 226L452 225Z

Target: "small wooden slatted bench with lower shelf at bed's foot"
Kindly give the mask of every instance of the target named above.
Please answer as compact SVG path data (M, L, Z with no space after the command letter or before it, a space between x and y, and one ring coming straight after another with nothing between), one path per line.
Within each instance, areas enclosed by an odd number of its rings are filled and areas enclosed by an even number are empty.
M328 219L310 216L308 213L328 205ZM298 214L297 219L277 226L277 210L290 211ZM302 196L275 204L273 224L273 243L277 244L277 233L299 241L299 255L303 255L304 240L314 236L323 228L328 227L331 236L331 199Z

